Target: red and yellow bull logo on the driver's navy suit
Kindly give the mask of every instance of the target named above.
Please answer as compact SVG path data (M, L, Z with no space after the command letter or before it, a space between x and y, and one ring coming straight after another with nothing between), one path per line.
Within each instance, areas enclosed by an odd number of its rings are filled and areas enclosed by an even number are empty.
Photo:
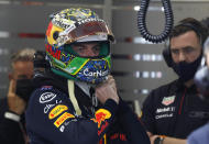
M96 111L95 118L91 119L95 123L98 123L98 128L100 129L101 123L111 117L111 113L106 109L99 109Z

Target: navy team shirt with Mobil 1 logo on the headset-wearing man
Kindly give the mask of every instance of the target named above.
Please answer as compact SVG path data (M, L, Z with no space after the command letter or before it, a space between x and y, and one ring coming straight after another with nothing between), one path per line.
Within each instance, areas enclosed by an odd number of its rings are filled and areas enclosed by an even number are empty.
M209 120L209 106L195 85L175 80L154 89L143 104L142 122L153 134L187 139Z

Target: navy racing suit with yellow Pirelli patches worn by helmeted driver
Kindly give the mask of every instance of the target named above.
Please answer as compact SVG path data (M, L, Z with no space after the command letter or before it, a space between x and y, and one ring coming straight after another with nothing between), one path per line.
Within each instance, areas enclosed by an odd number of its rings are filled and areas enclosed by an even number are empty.
M50 75L50 76L48 76ZM67 79L48 74L34 79L34 90L26 110L26 129L31 144L150 144L139 118L122 99L108 99L95 106L75 85L76 114L68 96Z

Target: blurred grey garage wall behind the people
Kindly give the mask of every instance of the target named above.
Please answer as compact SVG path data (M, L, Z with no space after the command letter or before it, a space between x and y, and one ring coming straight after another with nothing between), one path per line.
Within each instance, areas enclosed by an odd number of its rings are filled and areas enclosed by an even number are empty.
M48 15L70 7L95 10L108 21L117 43L112 45L112 75L121 97L141 108L147 93L176 78L162 57L164 43L152 44L140 35L136 20L140 0L0 0L0 97L7 96L10 56L24 47L44 51ZM209 16L209 0L170 0L174 23L193 16ZM164 9L151 0L147 27L152 34L164 29ZM138 111L139 112L139 111Z

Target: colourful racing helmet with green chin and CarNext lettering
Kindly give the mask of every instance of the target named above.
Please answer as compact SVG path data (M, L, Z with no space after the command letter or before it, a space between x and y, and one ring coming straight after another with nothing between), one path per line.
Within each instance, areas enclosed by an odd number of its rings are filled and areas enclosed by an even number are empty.
M110 43L114 41L107 23L90 9L65 9L52 15L46 31L46 56L53 73L67 79L99 84L111 69ZM72 48L77 43L98 43L99 56L81 57Z

